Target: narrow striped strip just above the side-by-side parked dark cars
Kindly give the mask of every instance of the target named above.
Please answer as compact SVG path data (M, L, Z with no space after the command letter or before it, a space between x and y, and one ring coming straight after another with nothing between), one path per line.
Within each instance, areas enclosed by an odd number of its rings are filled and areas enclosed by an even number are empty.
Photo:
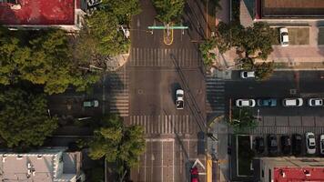
M247 133L251 135L263 134L305 134L306 132L313 132L316 135L324 133L323 126L257 126L250 129Z

